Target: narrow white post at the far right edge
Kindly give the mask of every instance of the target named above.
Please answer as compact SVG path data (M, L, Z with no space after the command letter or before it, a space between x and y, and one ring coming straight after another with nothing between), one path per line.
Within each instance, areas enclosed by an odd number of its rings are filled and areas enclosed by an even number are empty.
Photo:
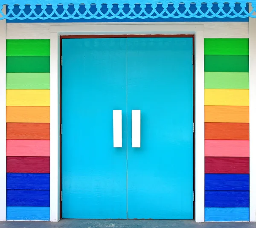
M252 10L250 4L250 10ZM256 18L249 17L250 222L256 221Z

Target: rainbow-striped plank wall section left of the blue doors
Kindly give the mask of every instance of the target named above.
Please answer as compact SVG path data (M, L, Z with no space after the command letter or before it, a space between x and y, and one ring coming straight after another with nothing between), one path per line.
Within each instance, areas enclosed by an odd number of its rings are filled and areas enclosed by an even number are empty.
M6 52L7 220L49 220L50 41Z

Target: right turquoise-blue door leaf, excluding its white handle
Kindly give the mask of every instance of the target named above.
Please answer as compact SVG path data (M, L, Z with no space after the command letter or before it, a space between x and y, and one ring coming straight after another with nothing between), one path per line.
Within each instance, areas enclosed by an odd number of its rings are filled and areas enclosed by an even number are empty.
M193 219L192 38L128 38L128 218ZM141 147L131 147L141 110Z

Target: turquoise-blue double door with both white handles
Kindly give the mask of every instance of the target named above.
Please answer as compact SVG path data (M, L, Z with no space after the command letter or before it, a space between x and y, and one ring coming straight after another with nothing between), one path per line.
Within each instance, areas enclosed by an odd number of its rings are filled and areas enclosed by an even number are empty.
M192 46L62 39L63 218L193 218Z

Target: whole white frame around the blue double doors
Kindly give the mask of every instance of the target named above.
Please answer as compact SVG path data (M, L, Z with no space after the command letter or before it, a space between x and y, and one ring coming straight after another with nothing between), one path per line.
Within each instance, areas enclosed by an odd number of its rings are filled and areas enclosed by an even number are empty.
M59 35L195 34L195 221L204 222L204 25L88 23L52 25L50 73L50 221L59 220Z

